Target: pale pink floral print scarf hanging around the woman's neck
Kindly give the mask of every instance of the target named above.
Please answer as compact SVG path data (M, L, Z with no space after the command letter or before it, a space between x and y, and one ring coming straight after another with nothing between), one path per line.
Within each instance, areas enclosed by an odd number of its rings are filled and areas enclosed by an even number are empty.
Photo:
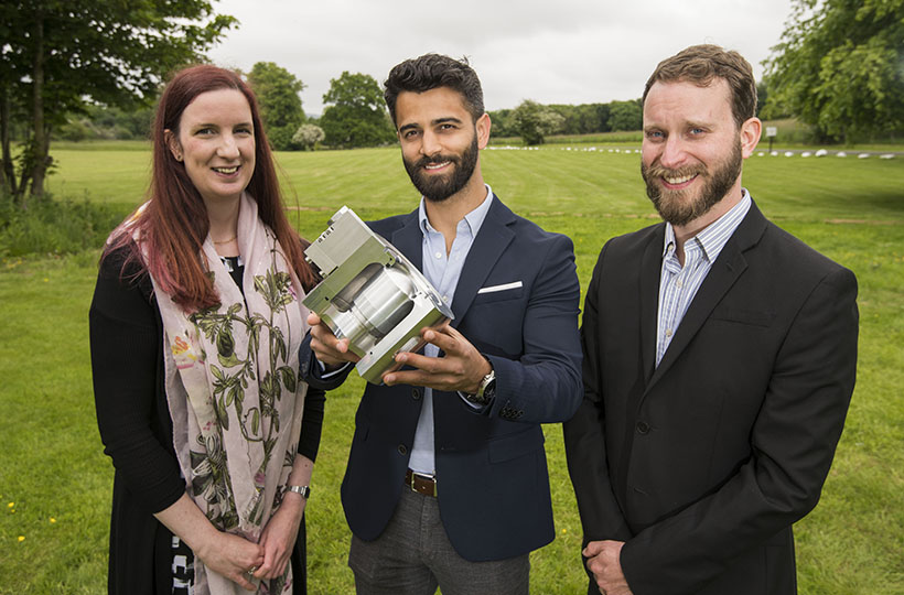
M245 193L238 217L244 296L207 237L201 259L222 303L185 312L152 279L163 320L166 398L186 490L219 530L257 542L298 451L304 394L298 349L303 292ZM291 591L286 574L258 593ZM195 560L195 593L247 594Z

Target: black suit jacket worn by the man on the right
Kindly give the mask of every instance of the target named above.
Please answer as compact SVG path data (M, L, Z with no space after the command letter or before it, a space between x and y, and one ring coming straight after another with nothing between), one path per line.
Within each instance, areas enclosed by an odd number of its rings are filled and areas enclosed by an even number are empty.
M626 542L635 595L796 593L790 527L853 391L857 281L753 205L656 367L664 234L607 242L588 291L564 428L584 542Z

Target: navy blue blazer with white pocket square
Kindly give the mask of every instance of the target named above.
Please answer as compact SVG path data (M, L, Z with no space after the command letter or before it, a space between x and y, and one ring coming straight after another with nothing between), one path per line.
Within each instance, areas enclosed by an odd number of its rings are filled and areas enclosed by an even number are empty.
M421 269L417 210L369 225ZM440 512L466 560L512 558L555 537L540 424L568 420L581 402L579 300L571 240L518 217L494 196L452 311L453 326L492 363L496 397L475 412L458 393L433 392ZM302 375L315 376L312 358L302 354ZM365 389L342 483L348 526L365 541L379 537L396 509L422 396L412 386Z

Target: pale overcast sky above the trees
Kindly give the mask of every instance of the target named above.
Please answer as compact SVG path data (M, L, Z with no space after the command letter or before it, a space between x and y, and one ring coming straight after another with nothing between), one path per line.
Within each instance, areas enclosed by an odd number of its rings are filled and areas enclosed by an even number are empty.
M240 24L213 48L220 66L275 62L300 78L304 111L323 111L343 71L383 84L428 52L467 56L486 109L634 99L656 64L698 43L738 50L757 80L790 0L220 0Z

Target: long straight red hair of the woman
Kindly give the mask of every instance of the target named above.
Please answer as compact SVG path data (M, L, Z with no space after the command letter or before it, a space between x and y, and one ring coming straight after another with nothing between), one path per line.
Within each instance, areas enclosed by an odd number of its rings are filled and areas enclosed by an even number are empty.
M289 225L282 206L273 154L260 121L257 99L248 85L233 71L208 64L190 66L173 76L160 97L151 140L153 169L148 191L150 201L144 209L133 214L130 228L146 242L147 261L142 261L131 234L115 238L112 249L131 246L128 261L142 262L160 288L186 310L200 310L219 303L213 284L205 274L200 252L207 237L207 208L195 188L185 165L171 153L165 131L179 137L182 112L198 95L218 89L241 93L251 108L255 128L255 172L246 188L257 202L258 217L277 236L289 266L302 286L310 290L316 283L311 266L305 262L302 242ZM304 242L306 247L306 242Z

